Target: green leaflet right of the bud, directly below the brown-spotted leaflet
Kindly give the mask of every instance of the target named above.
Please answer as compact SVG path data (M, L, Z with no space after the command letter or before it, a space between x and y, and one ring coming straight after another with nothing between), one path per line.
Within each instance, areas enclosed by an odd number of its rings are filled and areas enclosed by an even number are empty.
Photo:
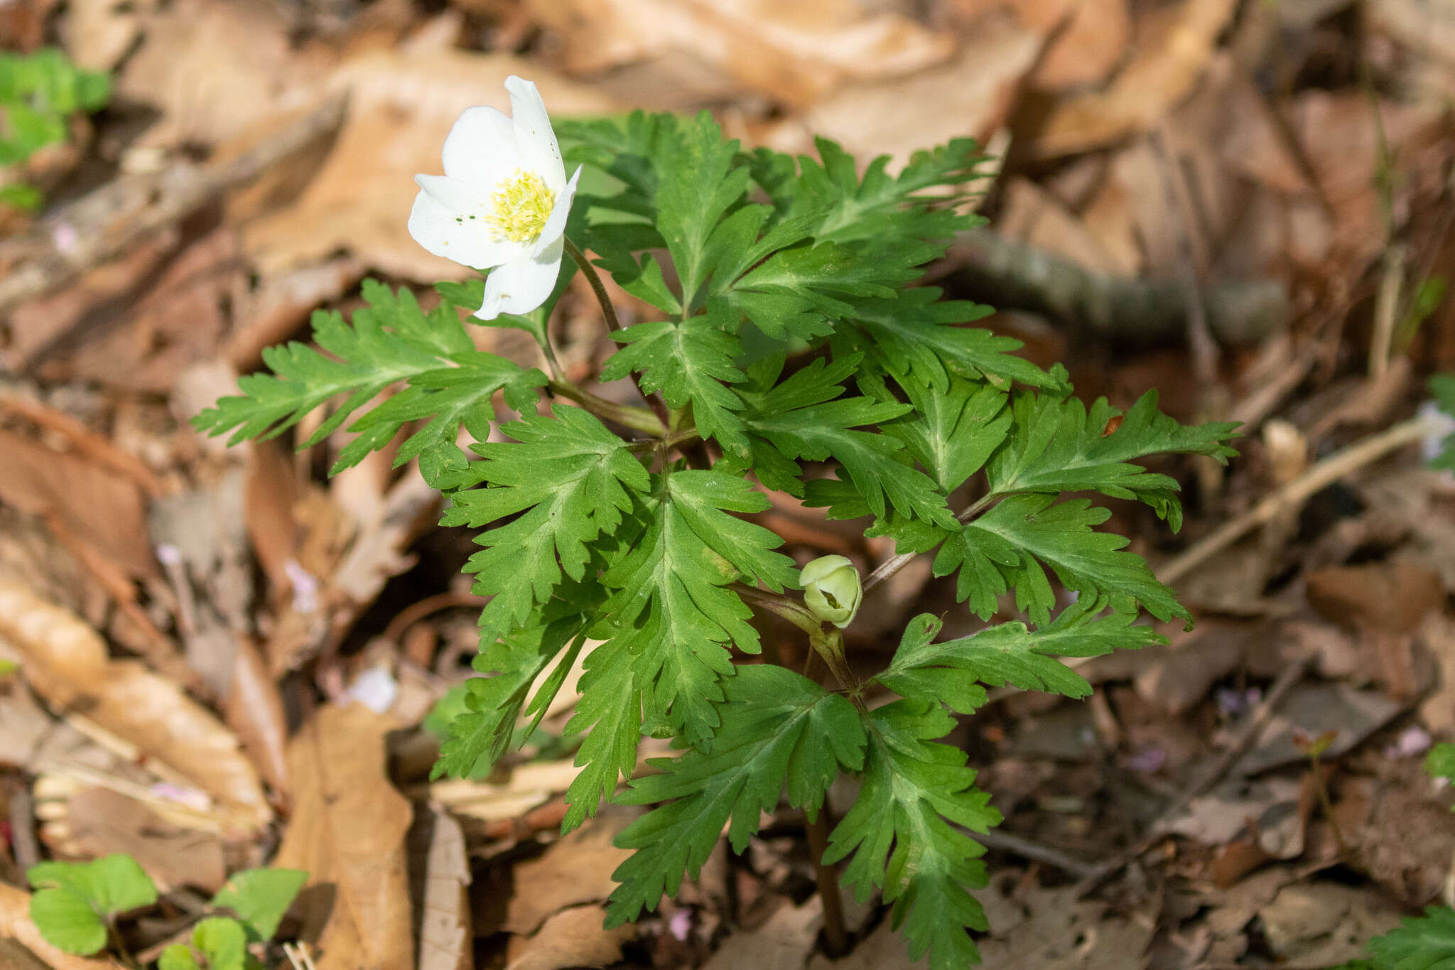
M1110 515L1087 499L1056 503L1053 494L1011 496L946 537L934 574L959 570L956 593L982 620L995 612L995 598L1014 588L1016 608L1037 625L1046 624L1055 593L1045 564L1067 589L1106 595L1119 611L1133 612L1139 602L1158 620L1181 617L1190 624L1192 614L1157 582L1147 560L1119 551L1128 544L1125 535L1093 531Z

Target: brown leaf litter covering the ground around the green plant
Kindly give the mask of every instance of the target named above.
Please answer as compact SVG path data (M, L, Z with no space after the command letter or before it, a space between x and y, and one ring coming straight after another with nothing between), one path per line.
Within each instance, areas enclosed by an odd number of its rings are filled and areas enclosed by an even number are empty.
M284 923L319 967L912 966L873 906L851 953L821 953L787 806L716 886L704 870L659 918L602 931L623 820L554 836L570 685L499 774L426 781L422 713L473 650L471 611L448 596L469 550L432 526L434 493L387 461L324 484L333 441L243 465L182 423L314 308L352 305L365 273L453 272L404 233L410 176L505 76L535 77L567 115L668 99L748 144L800 150L816 132L892 166L954 135L995 145L992 230L946 285L1010 284L963 295L1004 307L991 324L1042 340L1084 393L1129 404L1161 385L1180 417L1254 417L1225 477L1174 470L1197 476L1179 544L1117 509L1154 566L1381 435L1413 412L1411 375L1455 362L1448 305L1414 310L1449 272L1448 3L52 6L7 4L0 39L115 68L124 97L83 151L48 161L58 201L96 205L0 243L6 294L22 294L0 295L3 393L25 401L0 407L0 656L17 666L0 678L0 774L28 795L9 810L38 823L12 816L0 874L29 852L22 830L57 857L131 854L166 900L247 865L306 868ZM322 121L250 188L188 180L300 118ZM96 215L103 198L125 202L105 209L119 224ZM1186 270L1213 321L1241 313L1219 294L1283 300L1263 329L1215 327L1211 387L1184 377L1187 286L1171 281ZM589 371L605 353L595 311L563 307L563 332L589 334L567 358ZM1168 333L1173 349L1151 346ZM473 336L522 353L503 332ZM806 512L794 554L880 561ZM1455 730L1452 515L1449 476L1408 451L1356 464L1183 576L1199 630L1135 666L1088 663L1088 707L1005 695L968 720L957 742L1014 836L991 846L988 966L1328 966L1438 902L1449 795L1417 761ZM927 573L895 579L880 612L949 609L973 630ZM888 656L893 625L851 630L851 652ZM387 702L342 705L370 697ZM1326 731L1311 766L1299 739ZM832 794L837 811L854 798ZM1074 884L1087 867L1110 870L1091 893ZM0 883L0 961L17 945L39 966L106 966L38 939L28 905Z

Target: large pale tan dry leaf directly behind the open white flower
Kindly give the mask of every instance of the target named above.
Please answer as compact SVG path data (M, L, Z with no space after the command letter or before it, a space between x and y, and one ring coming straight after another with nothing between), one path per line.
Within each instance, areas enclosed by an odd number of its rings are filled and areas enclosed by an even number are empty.
M471 105L509 111L505 79L531 77L553 115L611 111L589 87L506 54L372 52L345 63L329 90L349 106L323 167L292 204L244 227L249 256L265 276L349 252L407 279L455 279L470 270L431 256L410 239L415 175L439 172L439 150Z

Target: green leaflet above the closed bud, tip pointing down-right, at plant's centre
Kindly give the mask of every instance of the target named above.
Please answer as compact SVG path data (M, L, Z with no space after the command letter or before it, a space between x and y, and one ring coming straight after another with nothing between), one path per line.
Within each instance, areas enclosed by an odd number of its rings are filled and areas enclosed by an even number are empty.
M882 425L908 413L908 404L870 397L838 397L844 391L829 378L851 372L857 358L826 368L815 361L771 391L751 397L748 429L764 441L754 442L754 462L764 484L803 494L794 478L794 460L837 460L874 515L883 518L893 506L906 516L957 528L954 516L927 476L917 471L904 444L877 432L854 430Z

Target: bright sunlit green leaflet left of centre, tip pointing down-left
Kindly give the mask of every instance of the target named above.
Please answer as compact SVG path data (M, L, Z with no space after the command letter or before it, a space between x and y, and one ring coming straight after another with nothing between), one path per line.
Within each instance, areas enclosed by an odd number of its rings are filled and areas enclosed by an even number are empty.
M474 592L490 596L480 612L489 643L522 627L563 574L582 580L591 544L611 535L631 510L633 492L650 486L646 468L626 444L579 407L554 406L501 426L515 442L471 448L485 457L471 473L490 487L454 494L441 525L492 525L476 537L485 548L470 557Z

